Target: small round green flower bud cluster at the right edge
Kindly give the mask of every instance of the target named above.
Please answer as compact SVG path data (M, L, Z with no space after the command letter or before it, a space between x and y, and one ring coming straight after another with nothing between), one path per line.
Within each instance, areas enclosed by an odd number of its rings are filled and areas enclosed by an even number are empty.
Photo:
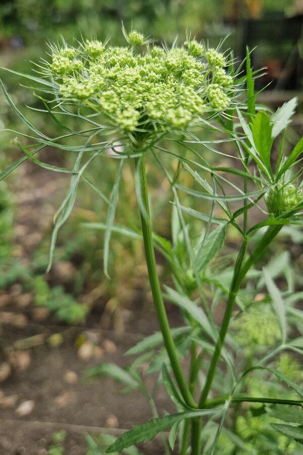
M268 211L274 215L280 215L300 202L303 202L303 191L291 184L278 185L269 192L266 199Z

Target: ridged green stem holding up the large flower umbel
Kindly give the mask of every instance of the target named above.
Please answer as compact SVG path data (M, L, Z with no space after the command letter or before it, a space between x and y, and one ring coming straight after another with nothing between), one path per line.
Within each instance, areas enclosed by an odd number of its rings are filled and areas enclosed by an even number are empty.
M135 158L137 164L138 159ZM142 225L142 235L145 249L146 264L148 269L148 277L151 288L151 293L153 294L154 305L160 325L160 329L163 335L164 344L170 359L171 367L174 372L178 387L184 398L186 404L190 407L196 407L194 399L189 391L189 388L186 384L181 364L178 358L178 353L176 346L171 335L170 326L162 298L161 287L159 283L158 273L157 273L157 264L155 258L155 251L153 245L153 231L151 230L151 222L149 216L149 203L148 203L148 192L147 192L147 182L146 182L146 173L144 165L144 157L141 158L140 163L140 183L142 191L142 200L146 215L141 215L141 225Z

